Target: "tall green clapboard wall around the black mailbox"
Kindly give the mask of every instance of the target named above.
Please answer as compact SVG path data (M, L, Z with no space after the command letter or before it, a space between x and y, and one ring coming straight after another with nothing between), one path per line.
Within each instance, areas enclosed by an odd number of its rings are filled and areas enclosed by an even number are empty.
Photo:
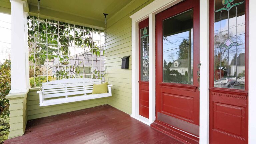
M108 104L128 114L132 113L132 20L129 16L153 0L133 0L107 20L107 69L112 97ZM129 69L121 69L121 58L130 56Z

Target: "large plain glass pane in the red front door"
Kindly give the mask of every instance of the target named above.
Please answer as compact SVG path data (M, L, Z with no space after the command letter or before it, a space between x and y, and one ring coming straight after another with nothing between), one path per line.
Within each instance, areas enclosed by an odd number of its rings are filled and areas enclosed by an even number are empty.
M193 84L193 10L163 21L163 82Z

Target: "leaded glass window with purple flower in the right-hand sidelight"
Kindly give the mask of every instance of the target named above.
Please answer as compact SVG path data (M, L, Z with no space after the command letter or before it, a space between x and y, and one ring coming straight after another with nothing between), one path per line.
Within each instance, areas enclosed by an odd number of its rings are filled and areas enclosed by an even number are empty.
M215 0L214 87L245 89L245 1Z

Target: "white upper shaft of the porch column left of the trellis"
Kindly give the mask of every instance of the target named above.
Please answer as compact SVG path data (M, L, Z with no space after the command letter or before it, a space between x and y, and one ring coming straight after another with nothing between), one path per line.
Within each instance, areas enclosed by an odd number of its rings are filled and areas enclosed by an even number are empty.
M28 46L27 15L24 14L24 1L11 2L11 91L10 93L27 92L28 80Z

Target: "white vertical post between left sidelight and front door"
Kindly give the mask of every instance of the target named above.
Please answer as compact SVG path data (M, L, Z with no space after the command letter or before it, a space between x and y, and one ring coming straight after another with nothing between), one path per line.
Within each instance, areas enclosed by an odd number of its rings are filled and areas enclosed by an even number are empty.
M156 119L156 57L155 57L155 14L151 13L149 19L149 123Z

